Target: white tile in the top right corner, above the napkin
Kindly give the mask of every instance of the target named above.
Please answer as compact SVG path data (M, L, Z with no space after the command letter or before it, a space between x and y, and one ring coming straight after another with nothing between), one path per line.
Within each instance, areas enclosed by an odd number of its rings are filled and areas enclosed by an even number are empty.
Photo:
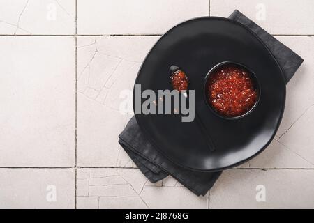
M314 34L314 1L211 0L211 15L239 10L271 34Z

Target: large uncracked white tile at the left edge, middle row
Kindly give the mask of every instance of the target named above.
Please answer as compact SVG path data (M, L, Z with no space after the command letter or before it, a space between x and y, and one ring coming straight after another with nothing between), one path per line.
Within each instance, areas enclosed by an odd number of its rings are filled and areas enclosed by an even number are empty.
M0 37L1 167L73 167L75 40Z

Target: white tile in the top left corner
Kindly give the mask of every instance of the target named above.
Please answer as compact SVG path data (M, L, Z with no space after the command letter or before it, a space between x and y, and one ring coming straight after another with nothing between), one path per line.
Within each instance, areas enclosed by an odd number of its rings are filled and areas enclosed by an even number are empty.
M75 0L1 0L0 34L74 34Z

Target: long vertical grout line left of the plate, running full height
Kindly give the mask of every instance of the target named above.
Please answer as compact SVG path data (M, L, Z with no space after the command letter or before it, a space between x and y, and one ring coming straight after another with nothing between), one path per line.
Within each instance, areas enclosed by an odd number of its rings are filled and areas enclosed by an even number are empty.
M77 209L77 0L75 0L75 209Z

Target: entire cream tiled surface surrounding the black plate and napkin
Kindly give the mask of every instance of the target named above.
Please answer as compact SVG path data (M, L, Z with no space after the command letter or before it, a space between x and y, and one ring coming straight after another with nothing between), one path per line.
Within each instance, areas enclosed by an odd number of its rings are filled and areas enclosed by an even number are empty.
M314 208L313 8L311 0L0 0L0 208ZM287 84L276 137L204 197L171 177L149 183L117 142L142 60L179 22L235 9L305 60Z

